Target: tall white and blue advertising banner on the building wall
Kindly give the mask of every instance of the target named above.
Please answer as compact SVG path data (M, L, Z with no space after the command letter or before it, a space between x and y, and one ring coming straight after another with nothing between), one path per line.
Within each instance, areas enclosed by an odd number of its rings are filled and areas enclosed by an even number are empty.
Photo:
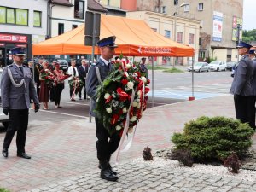
M212 41L221 42L222 25L223 25L223 14L217 11L213 11Z

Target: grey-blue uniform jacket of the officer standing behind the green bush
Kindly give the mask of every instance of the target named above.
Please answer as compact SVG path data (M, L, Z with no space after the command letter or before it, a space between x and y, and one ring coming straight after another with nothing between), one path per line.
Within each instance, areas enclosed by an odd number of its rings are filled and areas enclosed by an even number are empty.
M252 79L253 61L248 55L243 55L236 66L230 93L239 96L253 96Z

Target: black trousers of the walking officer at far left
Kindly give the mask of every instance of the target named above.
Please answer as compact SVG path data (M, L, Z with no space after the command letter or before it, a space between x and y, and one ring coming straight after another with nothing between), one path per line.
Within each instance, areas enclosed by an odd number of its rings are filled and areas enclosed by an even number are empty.
M10 109L9 120L9 128L7 129L4 137L3 148L9 148L10 143L12 142L12 139L15 136L15 132L17 131L17 153L23 153L25 152L26 144L28 109Z

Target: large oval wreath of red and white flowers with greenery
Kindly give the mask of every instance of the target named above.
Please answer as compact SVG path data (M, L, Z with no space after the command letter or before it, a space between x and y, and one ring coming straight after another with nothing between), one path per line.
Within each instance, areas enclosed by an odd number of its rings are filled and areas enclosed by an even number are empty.
M131 132L142 118L150 81L141 73L138 64L125 59L112 64L113 72L97 87L95 112L110 135L118 132L121 137L125 126Z

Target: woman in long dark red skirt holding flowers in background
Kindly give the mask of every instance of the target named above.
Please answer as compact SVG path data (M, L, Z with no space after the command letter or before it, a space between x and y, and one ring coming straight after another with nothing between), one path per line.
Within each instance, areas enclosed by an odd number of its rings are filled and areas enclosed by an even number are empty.
M50 86L50 72L48 69L48 63L44 61L42 63L43 69L39 73L40 80L40 91L39 91L39 102L43 102L43 109L48 110L49 102L49 86Z

